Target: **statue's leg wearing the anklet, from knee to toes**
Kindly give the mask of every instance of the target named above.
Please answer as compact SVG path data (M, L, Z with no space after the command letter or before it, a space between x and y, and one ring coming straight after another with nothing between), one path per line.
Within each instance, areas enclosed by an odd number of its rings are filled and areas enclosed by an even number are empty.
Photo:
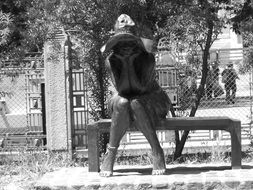
M109 177L113 173L113 165L120 140L130 125L129 101L123 97L115 96L112 105L112 124L110 140L104 161L101 166L100 176Z

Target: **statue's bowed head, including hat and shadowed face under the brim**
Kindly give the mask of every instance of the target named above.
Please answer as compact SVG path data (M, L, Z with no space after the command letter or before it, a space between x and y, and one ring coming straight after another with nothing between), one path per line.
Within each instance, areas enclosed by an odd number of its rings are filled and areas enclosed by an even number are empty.
M114 25L114 32L114 35L101 48L102 53L113 50L128 54L135 48L146 51L142 39L135 35L135 23L130 16L121 14Z

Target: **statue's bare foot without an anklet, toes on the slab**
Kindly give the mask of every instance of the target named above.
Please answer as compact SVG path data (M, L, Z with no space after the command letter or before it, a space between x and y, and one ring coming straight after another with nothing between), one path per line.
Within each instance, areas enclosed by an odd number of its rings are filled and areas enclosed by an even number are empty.
M153 155L153 171L152 175L165 174L166 166L163 153Z

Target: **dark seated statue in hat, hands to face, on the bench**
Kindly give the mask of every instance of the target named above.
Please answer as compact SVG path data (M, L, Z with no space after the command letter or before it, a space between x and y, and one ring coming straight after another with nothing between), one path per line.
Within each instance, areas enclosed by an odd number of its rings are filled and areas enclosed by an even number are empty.
M133 34L135 23L128 15L120 15L115 34L101 49L111 54L106 66L117 92L110 100L112 124L110 139L100 176L113 174L120 140L126 130L137 127L152 148L153 175L165 172L164 153L156 135L156 126L165 118L171 102L155 80L155 58L141 38Z

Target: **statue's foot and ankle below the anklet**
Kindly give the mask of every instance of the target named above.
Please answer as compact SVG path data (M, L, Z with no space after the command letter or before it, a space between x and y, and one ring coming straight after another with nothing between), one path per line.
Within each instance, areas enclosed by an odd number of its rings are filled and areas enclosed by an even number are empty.
M105 153L105 158L103 160L101 171L99 175L101 177L110 177L113 174L113 165L116 157L117 148L116 147L107 147L107 151Z

